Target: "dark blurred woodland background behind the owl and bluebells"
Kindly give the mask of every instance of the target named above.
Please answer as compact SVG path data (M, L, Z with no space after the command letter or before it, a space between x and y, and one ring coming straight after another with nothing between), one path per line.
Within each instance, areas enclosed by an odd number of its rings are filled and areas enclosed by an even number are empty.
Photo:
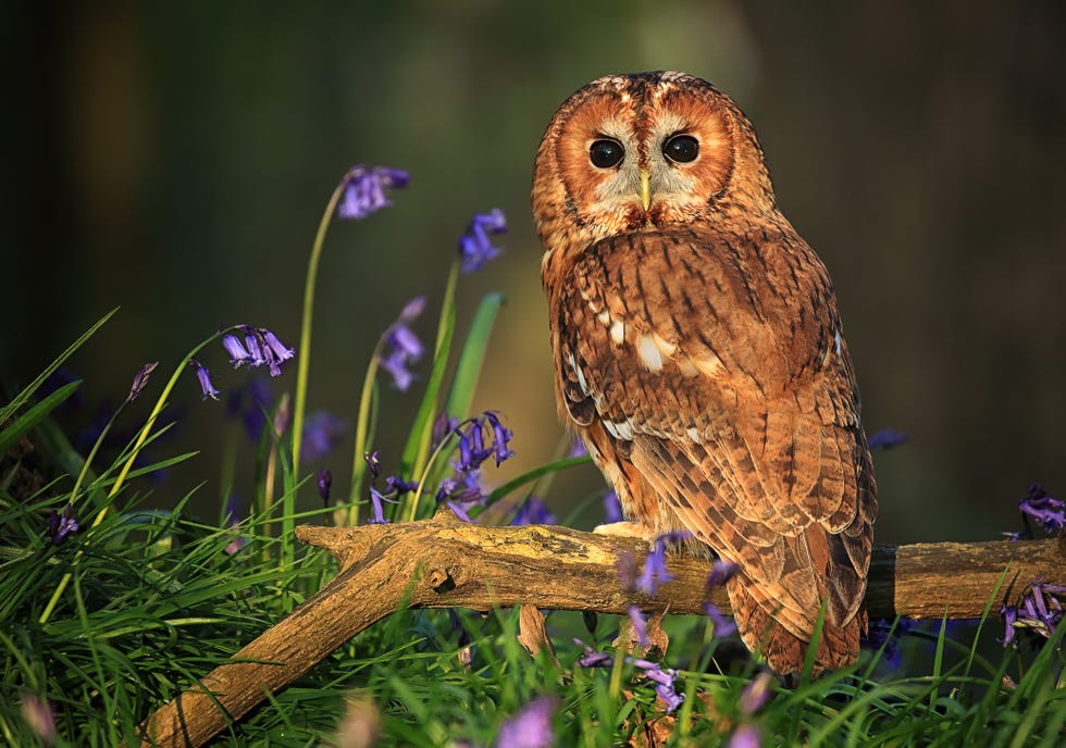
M0 382L26 384L121 306L71 361L83 425L158 360L135 427L222 324L296 346L325 202L351 164L384 164L410 186L327 238L310 410L354 422L381 332L417 295L436 309L458 236L498 207L506 253L461 279L460 329L485 292L506 295L478 406L503 413L517 458L486 477L543 463L562 432L534 151L588 80L675 68L755 123L783 211L833 277L867 429L912 437L876 456L878 540L992 539L1019 527L1031 482L1066 494L1066 4L40 2L5 15ZM416 326L434 328L435 313ZM221 346L202 360L226 392L248 379ZM418 395L384 389L386 472ZM201 403L190 372L168 413L178 427L153 457L200 454L141 489L168 506L202 482L213 514L225 403ZM305 467L327 465L345 494L350 456L349 432ZM571 472L547 497L559 514L600 485Z

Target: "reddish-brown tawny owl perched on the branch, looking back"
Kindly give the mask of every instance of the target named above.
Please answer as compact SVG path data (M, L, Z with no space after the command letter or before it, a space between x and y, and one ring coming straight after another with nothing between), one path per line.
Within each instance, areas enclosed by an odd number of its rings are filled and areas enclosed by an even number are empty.
M877 487L826 267L781 214L752 124L672 72L571 96L536 155L560 415L630 520L739 564L744 643L858 657Z

